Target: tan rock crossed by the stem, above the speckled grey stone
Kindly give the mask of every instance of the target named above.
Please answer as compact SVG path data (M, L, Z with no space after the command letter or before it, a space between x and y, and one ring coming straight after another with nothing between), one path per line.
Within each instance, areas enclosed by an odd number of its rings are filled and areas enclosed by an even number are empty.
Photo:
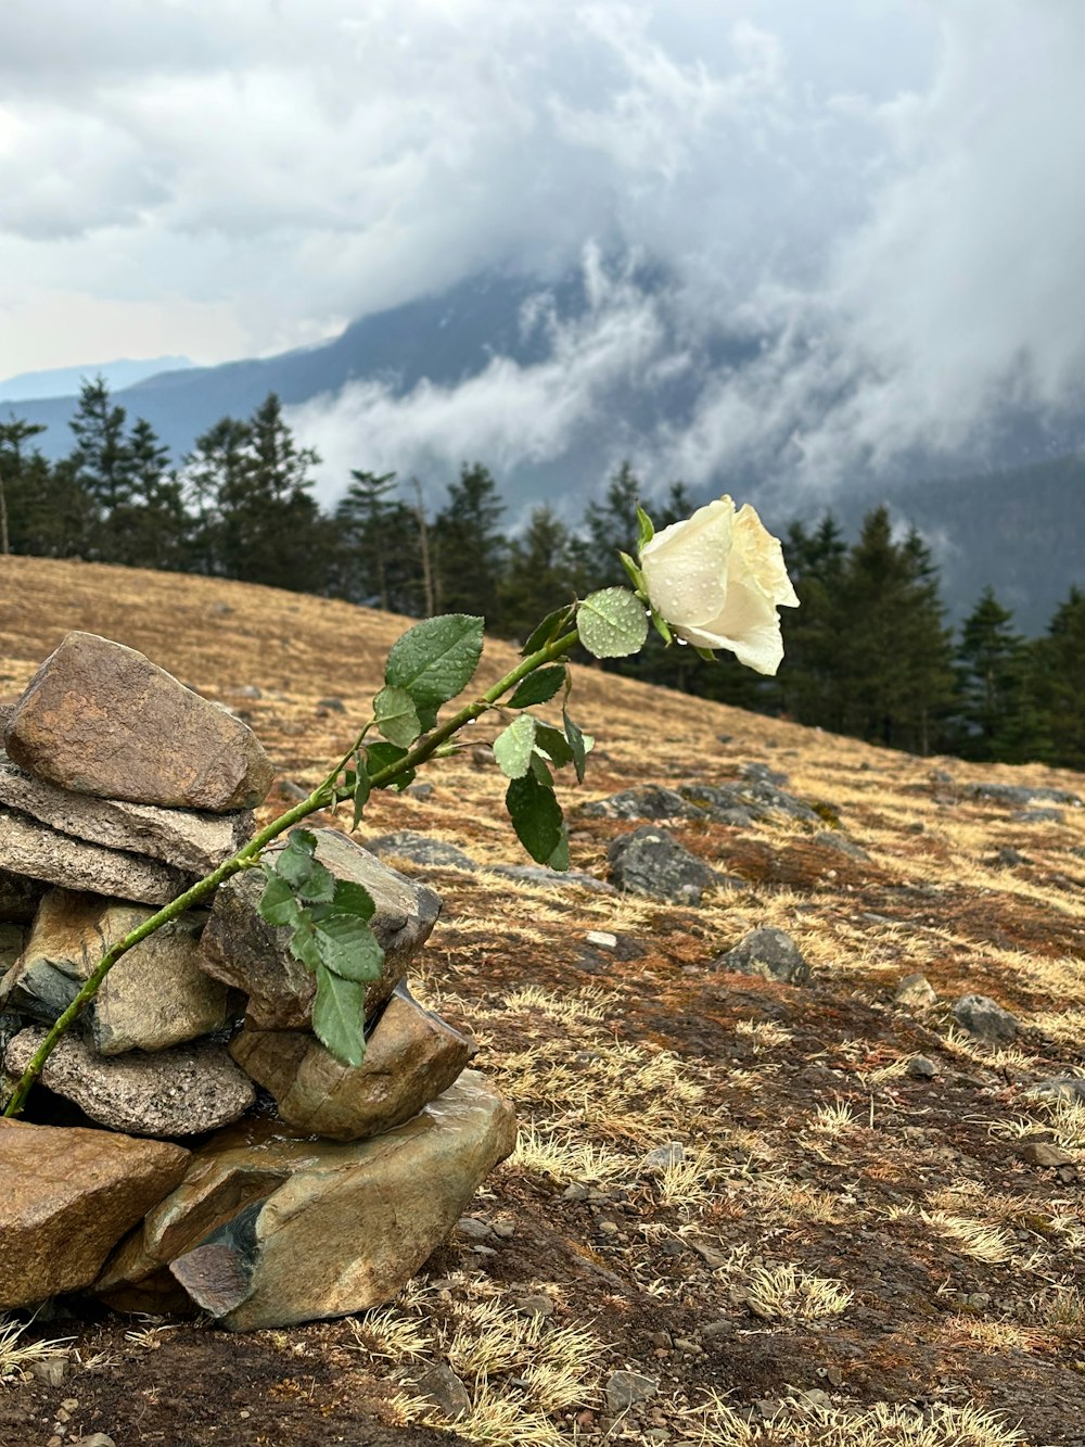
M103 954L152 913L97 894L51 890L19 965L0 983L0 1009L55 1020ZM200 925L192 916L175 920L110 969L84 1016L100 1055L162 1051L231 1022L230 991L200 968Z

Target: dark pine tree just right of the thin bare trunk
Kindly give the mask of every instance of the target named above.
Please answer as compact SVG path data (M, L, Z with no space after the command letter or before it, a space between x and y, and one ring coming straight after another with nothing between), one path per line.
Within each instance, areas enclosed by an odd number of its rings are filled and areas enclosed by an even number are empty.
M476 462L460 469L433 531L437 609L480 614L501 632L501 577L506 544L501 532L505 504L489 470Z

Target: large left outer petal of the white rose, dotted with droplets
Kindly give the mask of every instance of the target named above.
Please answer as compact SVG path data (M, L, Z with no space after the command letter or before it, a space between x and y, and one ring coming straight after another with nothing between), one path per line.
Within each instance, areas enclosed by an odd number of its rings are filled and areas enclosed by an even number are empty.
M720 498L671 522L641 548L648 599L671 625L696 628L723 606L733 515L735 504Z

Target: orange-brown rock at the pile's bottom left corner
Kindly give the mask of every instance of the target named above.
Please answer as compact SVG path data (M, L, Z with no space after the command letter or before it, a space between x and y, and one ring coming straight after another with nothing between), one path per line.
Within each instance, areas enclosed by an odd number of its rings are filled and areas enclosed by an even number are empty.
M159 1140L0 1120L0 1308L88 1286L188 1159Z

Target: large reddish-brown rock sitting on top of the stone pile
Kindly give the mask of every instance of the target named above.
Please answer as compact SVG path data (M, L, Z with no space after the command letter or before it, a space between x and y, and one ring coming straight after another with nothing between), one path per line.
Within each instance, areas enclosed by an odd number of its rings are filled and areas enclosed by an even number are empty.
M85 632L41 666L4 744L61 789L175 809L252 809L275 777L246 724L135 648Z

